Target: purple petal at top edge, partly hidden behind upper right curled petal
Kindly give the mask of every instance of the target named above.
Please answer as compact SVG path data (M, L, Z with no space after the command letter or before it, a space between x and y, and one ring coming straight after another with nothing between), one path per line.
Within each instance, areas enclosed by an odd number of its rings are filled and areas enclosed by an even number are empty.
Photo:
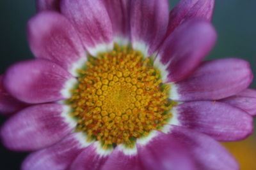
M210 21L214 0L181 0L170 12L167 35L190 18L204 18Z

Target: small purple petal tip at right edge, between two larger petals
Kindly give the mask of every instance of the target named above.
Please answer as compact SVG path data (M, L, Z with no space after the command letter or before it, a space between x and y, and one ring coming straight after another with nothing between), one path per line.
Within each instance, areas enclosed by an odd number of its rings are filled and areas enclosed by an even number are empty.
M243 92L221 99L220 101L240 108L252 116L256 115L256 90L246 89Z

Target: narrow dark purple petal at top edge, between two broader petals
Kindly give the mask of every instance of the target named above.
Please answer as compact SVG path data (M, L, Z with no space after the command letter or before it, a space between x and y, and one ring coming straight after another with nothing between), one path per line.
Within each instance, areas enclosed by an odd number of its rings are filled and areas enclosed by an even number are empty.
M129 41L130 39L130 8L131 1L104 0L113 27L115 41Z

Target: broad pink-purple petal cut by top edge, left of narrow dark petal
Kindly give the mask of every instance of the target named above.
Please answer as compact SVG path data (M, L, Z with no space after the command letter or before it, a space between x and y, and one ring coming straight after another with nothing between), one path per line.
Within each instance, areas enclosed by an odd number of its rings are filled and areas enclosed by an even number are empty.
M92 55L112 50L111 20L101 0L63 0L61 12L74 24L84 47Z

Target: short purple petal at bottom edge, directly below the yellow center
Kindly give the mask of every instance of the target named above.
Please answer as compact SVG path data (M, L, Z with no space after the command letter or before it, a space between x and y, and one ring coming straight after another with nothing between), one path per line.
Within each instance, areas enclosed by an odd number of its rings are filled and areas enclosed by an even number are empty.
M138 154L124 153L122 145L118 145L111 153L102 170L122 169L122 170L141 170Z

